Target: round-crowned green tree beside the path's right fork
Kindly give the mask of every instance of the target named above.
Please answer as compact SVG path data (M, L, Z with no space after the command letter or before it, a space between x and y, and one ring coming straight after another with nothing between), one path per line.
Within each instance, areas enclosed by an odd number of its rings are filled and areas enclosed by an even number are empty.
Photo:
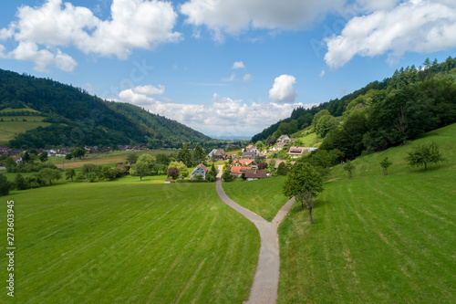
M314 166L307 162L297 162L285 179L283 193L287 197L295 196L309 211L310 224L314 224L312 208L316 195L323 191L323 180Z

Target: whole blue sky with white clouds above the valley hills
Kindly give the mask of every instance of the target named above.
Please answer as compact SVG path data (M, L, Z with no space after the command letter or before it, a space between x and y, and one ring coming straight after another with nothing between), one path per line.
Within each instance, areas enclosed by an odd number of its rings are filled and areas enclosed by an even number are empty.
M453 0L5 1L0 68L250 136L425 58L454 57Z

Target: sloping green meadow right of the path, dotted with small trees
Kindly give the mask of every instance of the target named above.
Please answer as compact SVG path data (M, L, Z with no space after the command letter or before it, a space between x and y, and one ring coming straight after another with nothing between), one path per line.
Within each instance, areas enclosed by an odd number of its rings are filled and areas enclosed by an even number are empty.
M295 204L279 228L278 303L456 302L456 125L409 145L337 167L316 201L315 225ZM440 144L447 162L428 172L403 160L418 143ZM378 162L393 165L383 176Z

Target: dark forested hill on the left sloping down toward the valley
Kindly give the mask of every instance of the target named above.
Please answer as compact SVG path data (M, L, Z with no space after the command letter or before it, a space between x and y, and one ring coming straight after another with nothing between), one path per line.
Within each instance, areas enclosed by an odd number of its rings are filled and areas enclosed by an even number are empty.
M0 69L0 111L5 109L10 116L16 110L20 117L33 114L50 123L18 134L8 144L12 148L137 143L161 147L210 140L201 132L139 107L101 100L52 79Z

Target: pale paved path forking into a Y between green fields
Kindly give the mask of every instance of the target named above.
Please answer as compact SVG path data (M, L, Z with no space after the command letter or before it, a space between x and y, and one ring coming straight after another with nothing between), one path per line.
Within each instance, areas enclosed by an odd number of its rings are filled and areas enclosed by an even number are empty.
M291 209L295 198L290 199L279 210L272 222L266 221L260 215L244 208L243 206L233 202L228 195L225 194L222 187L222 172L223 166L219 166L219 174L217 175L217 194L225 204L228 204L234 210L244 215L250 220L258 231L261 237L260 258L256 267L254 278L254 286L250 291L250 298L247 303L250 304L266 304L275 303L277 299L277 289L279 284L280 257L279 257L279 238L277 235L277 227L282 223L286 214Z

